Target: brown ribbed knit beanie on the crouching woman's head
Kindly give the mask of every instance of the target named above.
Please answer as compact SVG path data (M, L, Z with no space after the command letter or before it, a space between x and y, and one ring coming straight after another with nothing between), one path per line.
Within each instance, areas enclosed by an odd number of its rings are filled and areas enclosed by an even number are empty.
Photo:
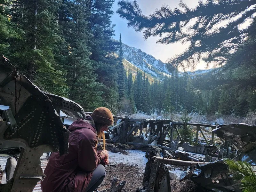
M114 123L114 118L111 111L105 107L99 107L95 109L92 113L93 121L96 123L112 125Z

